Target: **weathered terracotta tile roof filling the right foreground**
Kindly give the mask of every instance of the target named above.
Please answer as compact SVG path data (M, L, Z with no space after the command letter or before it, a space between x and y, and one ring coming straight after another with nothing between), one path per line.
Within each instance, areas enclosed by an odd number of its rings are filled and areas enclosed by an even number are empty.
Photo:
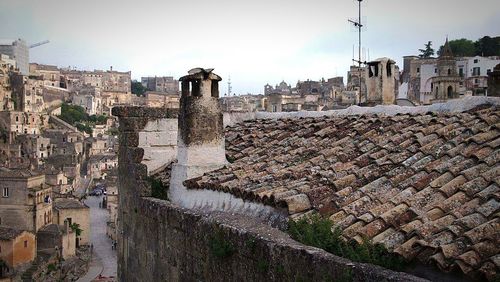
M245 121L225 168L185 182L319 212L346 238L492 279L500 273L500 109Z

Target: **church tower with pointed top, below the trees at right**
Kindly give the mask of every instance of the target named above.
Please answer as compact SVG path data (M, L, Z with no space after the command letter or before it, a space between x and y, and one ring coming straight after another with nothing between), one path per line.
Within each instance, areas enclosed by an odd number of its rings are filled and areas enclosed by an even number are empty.
M444 102L448 99L459 98L459 85L461 78L457 73L457 62L451 51L448 38L443 47L443 52L437 59L437 73L431 78L432 103Z

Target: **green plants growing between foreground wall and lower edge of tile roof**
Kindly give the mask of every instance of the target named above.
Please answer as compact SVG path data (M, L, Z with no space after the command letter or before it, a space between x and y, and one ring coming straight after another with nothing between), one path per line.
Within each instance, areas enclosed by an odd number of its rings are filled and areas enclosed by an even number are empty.
M369 240L363 243L346 242L339 228L333 228L333 223L312 216L297 222L290 221L288 233L290 236L306 245L321 248L337 256L348 258L352 261L371 263L386 268L401 270L405 261L399 256L389 253L382 245L374 245Z

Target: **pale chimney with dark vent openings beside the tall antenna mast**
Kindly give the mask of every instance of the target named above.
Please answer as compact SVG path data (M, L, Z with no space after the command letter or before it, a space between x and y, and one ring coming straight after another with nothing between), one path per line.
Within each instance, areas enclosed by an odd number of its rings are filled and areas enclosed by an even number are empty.
M367 105L392 105L396 102L399 86L399 69L389 58L380 58L367 63Z

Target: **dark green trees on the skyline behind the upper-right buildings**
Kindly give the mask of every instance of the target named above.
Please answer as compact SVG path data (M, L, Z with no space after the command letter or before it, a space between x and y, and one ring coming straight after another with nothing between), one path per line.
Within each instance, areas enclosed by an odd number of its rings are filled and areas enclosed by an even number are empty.
M448 43L453 55L456 57L500 56L500 36L484 36L476 41L461 38L450 40ZM443 47L439 48L438 55L443 52Z

